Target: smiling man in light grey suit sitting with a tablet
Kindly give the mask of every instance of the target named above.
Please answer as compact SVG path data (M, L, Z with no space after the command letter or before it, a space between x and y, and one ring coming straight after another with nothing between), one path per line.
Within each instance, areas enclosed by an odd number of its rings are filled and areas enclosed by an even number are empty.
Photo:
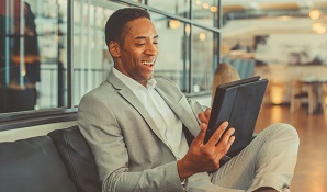
M235 139L234 128L223 134L224 122L204 145L211 109L187 99L172 81L154 78L158 34L148 12L114 12L105 42L114 67L106 81L82 98L78 111L102 191L289 190L298 147L292 126L267 127L219 167Z

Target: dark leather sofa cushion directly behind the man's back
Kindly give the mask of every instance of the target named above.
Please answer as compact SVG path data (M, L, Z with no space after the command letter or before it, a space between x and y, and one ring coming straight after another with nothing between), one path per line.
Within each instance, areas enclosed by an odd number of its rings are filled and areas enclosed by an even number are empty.
M101 183L91 149L78 126L48 134L79 192L100 192Z

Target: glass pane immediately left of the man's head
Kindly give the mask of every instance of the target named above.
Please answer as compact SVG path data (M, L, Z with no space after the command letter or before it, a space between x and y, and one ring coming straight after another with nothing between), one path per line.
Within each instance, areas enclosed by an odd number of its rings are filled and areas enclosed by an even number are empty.
M113 60L104 42L108 18L125 5L103 1L74 1L72 104L105 80Z

